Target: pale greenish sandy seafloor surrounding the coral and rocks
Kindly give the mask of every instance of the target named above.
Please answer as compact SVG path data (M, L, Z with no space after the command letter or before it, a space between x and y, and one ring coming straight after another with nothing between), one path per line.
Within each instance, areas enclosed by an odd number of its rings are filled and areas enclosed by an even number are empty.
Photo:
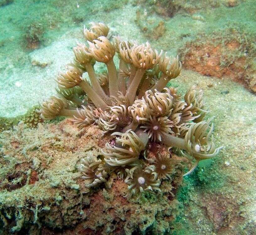
M84 42L82 28L91 21L108 24L110 34L124 39L148 40L173 56L200 33L211 35L232 26L248 34L255 30L254 0L233 1L236 6L216 1L220 4L215 8L201 1L181 2L200 7L191 13L178 10L173 17L157 14L140 1L31 0L0 7L0 116L22 115L55 93L54 77L72 60L76 42ZM149 29L154 22L164 22L159 39L147 38L136 22L137 10L147 15ZM27 48L24 37L33 22L45 27L34 50ZM202 76L192 70L182 70L172 84L182 92L193 84L204 90L209 115L215 116L216 145L225 146L210 165L185 177L180 188L179 234L256 234L255 93L229 77Z

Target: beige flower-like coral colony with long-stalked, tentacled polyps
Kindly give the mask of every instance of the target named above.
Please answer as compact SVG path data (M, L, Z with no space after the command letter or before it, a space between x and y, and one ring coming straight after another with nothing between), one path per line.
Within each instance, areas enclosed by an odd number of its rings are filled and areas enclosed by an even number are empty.
M57 94L42 102L41 118L67 116L78 128L94 124L113 139L106 143L102 157L88 155L78 170L87 187L105 183L111 173L128 185L126 197L140 197L144 191L160 191L162 180L175 173L180 161L168 151L180 149L195 164L216 156L220 148L213 143L213 124L205 121L202 91L191 87L184 99L176 88L166 87L179 76L179 58L171 59L149 43L136 44L113 37L109 28L91 23L83 34L88 44L73 48L74 61L56 77ZM113 62L115 53L119 69ZM107 73L94 70L97 62L106 64ZM88 73L89 81L83 76ZM156 148L154 157L147 152Z

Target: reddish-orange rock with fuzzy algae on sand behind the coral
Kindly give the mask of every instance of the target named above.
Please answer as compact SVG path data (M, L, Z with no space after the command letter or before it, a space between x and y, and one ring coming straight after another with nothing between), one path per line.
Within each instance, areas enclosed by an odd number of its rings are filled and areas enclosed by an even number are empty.
M182 63L206 76L229 77L256 92L255 35L231 27L201 34L179 49Z

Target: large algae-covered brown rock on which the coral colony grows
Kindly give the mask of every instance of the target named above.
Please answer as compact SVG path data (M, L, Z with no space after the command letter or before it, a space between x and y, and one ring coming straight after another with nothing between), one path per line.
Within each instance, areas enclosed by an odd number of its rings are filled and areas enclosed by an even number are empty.
M58 124L23 123L1 134L0 227L3 234L143 234L170 231L178 214L175 188L181 170L157 194L124 198L127 185L117 175L105 189L88 189L77 165L100 157L103 142L95 126L78 130L68 119ZM103 141L103 142L102 142Z

